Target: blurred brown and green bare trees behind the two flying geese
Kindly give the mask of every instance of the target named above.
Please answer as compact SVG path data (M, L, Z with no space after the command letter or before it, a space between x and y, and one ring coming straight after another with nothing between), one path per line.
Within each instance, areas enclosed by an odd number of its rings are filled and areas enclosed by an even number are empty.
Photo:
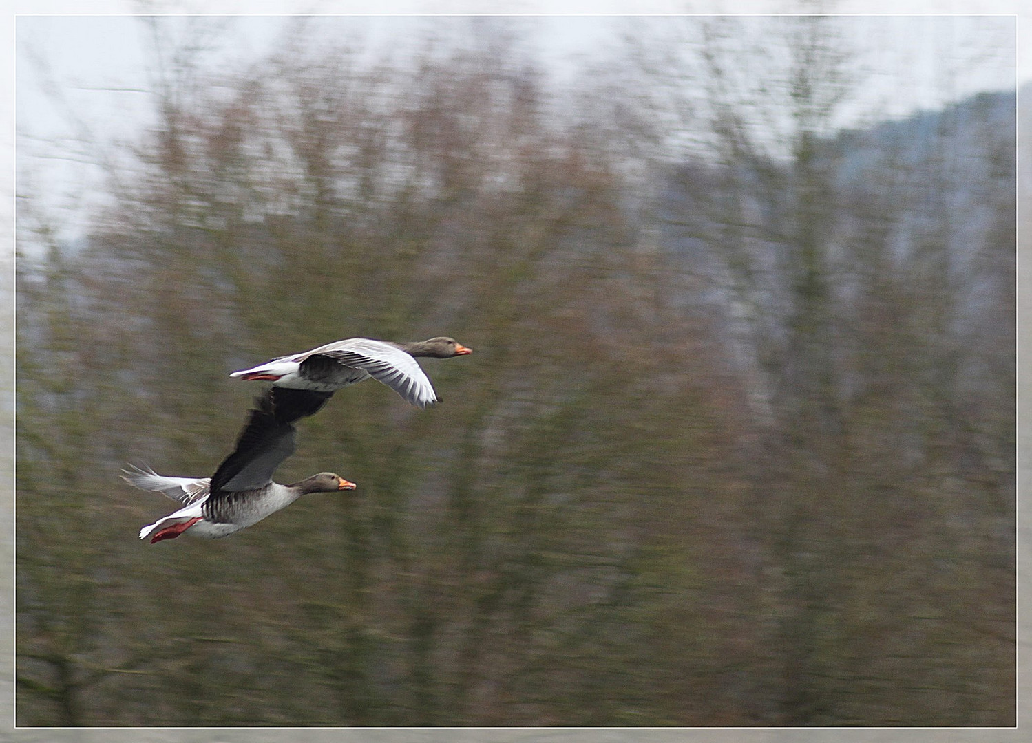
M1014 94L842 130L836 22L766 23L561 95L504 21L181 47L86 238L23 179L18 723L1014 724ZM299 424L354 494L136 540L229 372L438 334L443 403Z

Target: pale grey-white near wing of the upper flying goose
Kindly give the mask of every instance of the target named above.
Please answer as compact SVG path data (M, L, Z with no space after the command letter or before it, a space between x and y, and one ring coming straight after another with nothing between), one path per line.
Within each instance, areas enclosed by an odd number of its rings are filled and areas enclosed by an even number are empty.
M326 359L366 373L417 408L425 408L438 400L433 385L416 359L392 344L349 338L292 357L292 360L301 362L301 374L305 374L307 368L316 370L323 366Z

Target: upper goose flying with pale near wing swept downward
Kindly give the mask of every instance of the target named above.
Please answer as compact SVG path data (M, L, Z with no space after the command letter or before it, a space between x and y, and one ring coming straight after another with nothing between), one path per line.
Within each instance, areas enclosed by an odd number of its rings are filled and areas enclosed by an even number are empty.
M373 377L417 408L438 401L433 386L414 356L451 358L473 353L450 337L433 337L417 343L391 343L369 338L348 338L326 344L304 353L280 356L254 368L233 372L230 377L268 380L273 389L304 390L280 392L280 402L288 406L296 420L312 415L336 390Z

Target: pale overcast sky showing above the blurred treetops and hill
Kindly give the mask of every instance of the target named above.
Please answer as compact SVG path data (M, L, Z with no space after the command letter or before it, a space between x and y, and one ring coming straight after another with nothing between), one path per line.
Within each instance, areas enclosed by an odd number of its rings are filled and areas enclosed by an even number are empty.
M18 6L20 3L15 2ZM83 194L93 193L96 168L80 162L77 136L95 136L101 140L132 138L148 121L149 101L144 74L148 39L138 19L124 13L150 12L238 12L246 8L256 13L297 12L311 9L318 13L355 12L368 8L367 2L337 0L333 2L287 2L286 0L206 0L200 2L133 3L116 0L37 0L21 3L35 13L103 12L100 17L38 17L25 15L17 21L17 108L19 171L23 177L31 173L38 179L34 192L42 190L53 205L65 215L64 236L82 230L82 216L92 206ZM1032 2L1026 3L1032 5ZM616 2L602 0L558 0L556 2L417 2L416 0L382 0L377 7L383 12L418 13L466 12L483 7L510 12L535 14L549 12L615 13L714 11L721 6L737 12L752 10L795 10L812 8L813 3L768 2L738 0L720 2ZM864 2L824 3L837 12L1013 12L1018 3L1006 0L957 2L949 0L865 0ZM402 19L324 19L323 28L362 29L362 33L378 38L393 38L408 22ZM605 56L613 47L611 41L618 28L614 18L548 18L531 23L541 58L557 74L576 69L575 60ZM268 49L283 22L279 18L245 17L227 27L225 49L233 57L244 59ZM854 43L861 51L862 64L877 71L869 77L871 84L861 91L854 108L858 118L877 110L885 115L906 114L916 108L932 108L979 90L1003 90L1013 86L1013 21L1010 18L907 18L897 15L872 24L869 18L850 19L844 24L852 30ZM872 29L876 29L872 33ZM1024 28L1022 29L1024 30ZM231 39L231 40L230 40ZM965 54L980 51L980 61L969 62L957 55L945 54L950 49L965 49ZM226 54L229 54L228 52ZM975 58L972 57L972 60ZM1026 59L1019 61L1019 79L1032 77L1032 67ZM87 132L72 131L68 117L55 107L41 88L47 75L61 85L68 105L90 127ZM867 108L865 110L864 108ZM26 177L26 181L28 179Z

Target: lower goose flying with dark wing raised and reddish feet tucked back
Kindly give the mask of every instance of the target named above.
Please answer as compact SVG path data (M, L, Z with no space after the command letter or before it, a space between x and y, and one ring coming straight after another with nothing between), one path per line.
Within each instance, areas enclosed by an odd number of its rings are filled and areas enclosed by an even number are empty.
M190 534L218 539L258 523L305 493L354 490L355 484L332 473L319 473L292 485L272 482L280 462L294 452L294 426L277 416L276 397L256 400L257 408L236 441L236 448L209 478L162 477L153 470L123 470L123 479L140 490L164 493L185 508L148 524L139 538L151 544Z

